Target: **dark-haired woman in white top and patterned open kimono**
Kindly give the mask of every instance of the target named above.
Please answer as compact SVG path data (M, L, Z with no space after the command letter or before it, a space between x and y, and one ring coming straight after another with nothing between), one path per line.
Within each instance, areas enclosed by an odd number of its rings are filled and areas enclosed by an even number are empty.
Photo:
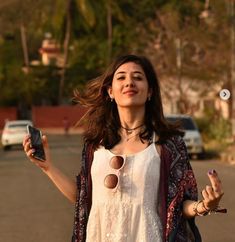
M219 211L217 173L197 200L197 186L182 133L163 115L159 82L142 56L116 59L75 100L88 107L82 168L77 182L50 161L29 159L75 205L73 241L201 241L195 216Z

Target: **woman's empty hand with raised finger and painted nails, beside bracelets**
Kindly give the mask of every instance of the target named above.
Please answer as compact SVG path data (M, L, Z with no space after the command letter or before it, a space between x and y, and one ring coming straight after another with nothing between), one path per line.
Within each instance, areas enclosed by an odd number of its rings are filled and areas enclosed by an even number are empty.
M211 186L206 186L202 190L203 204L207 210L214 210L219 206L219 202L224 195L222 184L215 170L208 172Z

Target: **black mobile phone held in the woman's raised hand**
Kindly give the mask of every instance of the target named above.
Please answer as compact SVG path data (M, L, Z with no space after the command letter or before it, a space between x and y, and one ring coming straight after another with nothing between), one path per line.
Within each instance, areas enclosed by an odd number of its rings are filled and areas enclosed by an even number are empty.
M31 146L35 149L33 153L33 157L40 160L45 161L45 152L42 144L42 133L39 129L28 125L27 126L28 133L30 134Z

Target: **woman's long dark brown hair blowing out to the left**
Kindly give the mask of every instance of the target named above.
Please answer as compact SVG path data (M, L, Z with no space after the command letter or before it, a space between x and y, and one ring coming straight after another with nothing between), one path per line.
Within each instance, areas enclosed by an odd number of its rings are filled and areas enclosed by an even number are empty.
M156 132L158 143L161 144L170 136L183 134L178 126L164 118L159 81L151 62L144 56L125 55L117 58L103 75L89 81L83 92L74 91L74 101L88 108L78 124L85 125L84 139L95 148L103 145L111 149L121 140L117 105L110 100L107 90L112 85L115 71L128 62L143 68L149 88L152 89L151 100L145 104L145 130L139 135L141 140L150 140L153 132Z

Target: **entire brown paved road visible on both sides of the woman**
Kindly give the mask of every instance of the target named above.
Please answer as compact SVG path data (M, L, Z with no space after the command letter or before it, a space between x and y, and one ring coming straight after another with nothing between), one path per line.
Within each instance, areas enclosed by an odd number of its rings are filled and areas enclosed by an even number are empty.
M80 169L80 137L49 136L56 165L75 177ZM192 161L199 190L208 184L206 172L216 169L224 183L227 215L197 218L204 242L235 241L235 166L216 161ZM31 164L20 149L0 151L0 242L69 242L74 205Z

